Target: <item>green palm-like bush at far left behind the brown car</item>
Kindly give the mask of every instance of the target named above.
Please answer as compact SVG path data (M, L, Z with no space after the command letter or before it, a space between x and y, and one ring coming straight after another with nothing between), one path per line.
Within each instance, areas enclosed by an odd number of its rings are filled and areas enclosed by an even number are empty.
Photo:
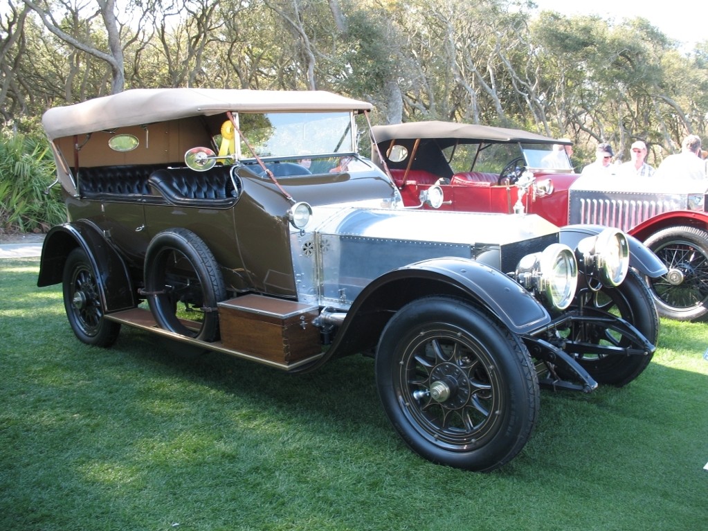
M55 191L54 160L45 139L0 133L0 231L47 232L66 219Z

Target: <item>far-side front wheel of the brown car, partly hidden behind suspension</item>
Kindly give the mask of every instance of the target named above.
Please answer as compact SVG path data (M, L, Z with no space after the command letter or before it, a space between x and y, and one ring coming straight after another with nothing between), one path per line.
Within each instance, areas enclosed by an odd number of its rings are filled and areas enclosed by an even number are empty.
M600 291L593 293L592 299L586 301L586 304L622 317L639 330L653 345L656 345L659 335L658 313L646 283L635 270L630 269L627 278L619 286L603 287ZM600 326L582 324L571 334L578 341L595 345L626 347L630 344L626 337ZM576 361L598 383L622 387L639 376L649 365L652 357L653 354L580 355Z

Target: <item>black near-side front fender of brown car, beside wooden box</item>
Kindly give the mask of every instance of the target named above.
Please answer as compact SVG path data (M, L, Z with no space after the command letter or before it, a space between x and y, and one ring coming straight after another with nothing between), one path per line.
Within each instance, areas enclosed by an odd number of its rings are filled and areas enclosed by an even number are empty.
M500 271L469 259L435 258L392 270L362 290L347 312L328 358L375 346L397 310L430 295L471 301L515 334L529 333L551 321L540 302Z

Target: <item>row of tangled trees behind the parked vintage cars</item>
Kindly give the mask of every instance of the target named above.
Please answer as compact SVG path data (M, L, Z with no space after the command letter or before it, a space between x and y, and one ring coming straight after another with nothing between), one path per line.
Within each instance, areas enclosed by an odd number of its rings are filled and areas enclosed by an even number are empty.
M377 123L455 120L569 137L649 160L706 139L708 42L644 18L534 13L526 0L8 0L0 113L165 86L322 89ZM28 125L29 124L29 125Z

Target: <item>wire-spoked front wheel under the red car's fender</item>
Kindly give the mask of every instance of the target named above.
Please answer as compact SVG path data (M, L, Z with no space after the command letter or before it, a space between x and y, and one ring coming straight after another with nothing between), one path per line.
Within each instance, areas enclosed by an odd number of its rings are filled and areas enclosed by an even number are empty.
M695 227L669 227L649 236L644 244L668 268L666 275L648 279L659 315L677 321L705 319L708 232Z

